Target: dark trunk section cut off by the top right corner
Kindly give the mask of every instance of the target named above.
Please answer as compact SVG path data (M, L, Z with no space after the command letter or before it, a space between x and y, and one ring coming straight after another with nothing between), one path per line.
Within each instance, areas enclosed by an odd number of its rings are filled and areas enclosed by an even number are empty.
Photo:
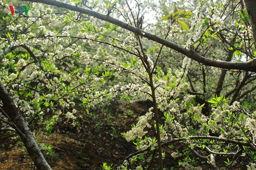
M253 38L256 41L256 1L255 0L244 0L245 7L249 16L249 20L251 23L252 31L253 31Z

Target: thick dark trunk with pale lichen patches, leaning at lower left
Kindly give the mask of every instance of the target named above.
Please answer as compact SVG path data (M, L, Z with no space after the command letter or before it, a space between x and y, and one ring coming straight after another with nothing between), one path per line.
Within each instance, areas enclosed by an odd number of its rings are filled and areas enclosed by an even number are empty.
M7 92L5 86L0 82L0 99L3 103L2 111L10 119L10 122L14 125L15 130L21 137L27 152L33 160L35 166L39 170L51 170L51 167L46 162L39 146L35 142L35 139L27 126L25 120L19 113L18 108L15 106L13 99Z

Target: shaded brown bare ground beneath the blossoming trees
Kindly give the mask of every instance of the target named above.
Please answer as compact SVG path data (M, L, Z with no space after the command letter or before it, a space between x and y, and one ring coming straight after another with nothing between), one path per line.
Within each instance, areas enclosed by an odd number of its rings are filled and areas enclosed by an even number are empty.
M135 151L121 132L130 130L138 116L147 111L145 105L134 104L130 114L107 109L102 114L84 116L81 128L72 128L60 123L51 136L37 135L36 140L44 143L44 155L54 170L102 169L103 162L116 164ZM20 139L0 133L0 169L34 169ZM51 148L52 147L52 148Z

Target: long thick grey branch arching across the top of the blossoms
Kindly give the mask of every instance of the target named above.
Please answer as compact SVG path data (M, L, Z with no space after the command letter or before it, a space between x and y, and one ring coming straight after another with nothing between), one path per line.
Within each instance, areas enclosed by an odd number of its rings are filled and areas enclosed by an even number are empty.
M78 6L70 5L68 3L59 2L59 1L55 1L55 0L21 0L21 1L39 2L39 3L43 3L43 4L48 4L48 5L52 5L52 6L56 6L56 7L69 9L71 11L77 11L77 12L80 12L82 14L86 14L89 16L93 16L95 18L104 20L106 22L118 25L119 27L122 27L128 31L131 31L139 36L146 37L149 40L153 40L159 44L165 45L166 47L169 47L169 48L191 58L192 60L195 60L195 61L202 63L204 65L207 65L207 66L213 66L213 67L218 67L218 68L223 68L223 69L236 69L236 70L245 70L245 71L256 72L256 59L251 60L251 61L246 61L246 62L227 62L227 61L211 60L209 58L200 56L197 52L194 51L193 47L191 47L191 49L183 48L177 44L171 43L170 41L167 41L167 40L160 38L156 35L153 35L151 33L143 31L139 28L133 27L127 23L124 23L122 21L114 19L108 15L102 15L95 11L91 11L91 10L88 10L85 8L81 8ZM247 0L247 1L249 1L249 0Z

